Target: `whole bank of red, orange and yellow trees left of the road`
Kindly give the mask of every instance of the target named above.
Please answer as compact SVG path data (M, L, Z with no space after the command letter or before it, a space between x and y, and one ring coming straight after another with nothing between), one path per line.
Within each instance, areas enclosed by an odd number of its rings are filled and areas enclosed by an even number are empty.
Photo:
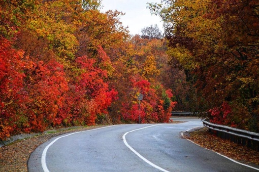
M168 122L176 102L164 42L130 37L123 14L101 13L100 2L0 2L0 139L139 114Z

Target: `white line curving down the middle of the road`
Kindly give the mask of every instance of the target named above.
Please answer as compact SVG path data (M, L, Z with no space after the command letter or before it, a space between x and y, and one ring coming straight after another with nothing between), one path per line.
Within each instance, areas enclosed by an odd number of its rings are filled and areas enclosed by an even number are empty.
M156 125L163 125L163 124L156 124ZM151 125L151 126L156 126L156 125ZM150 162L149 160L147 160L146 158L144 158L142 155L140 155L135 149L133 149L126 141L126 138L125 136L128 134L128 133L131 133L131 132L135 132L137 130L142 130L144 128L148 128L148 127L151 127L151 126L146 126L146 127L143 127L143 128L139 128L139 129L136 129L136 130L133 130L133 131L130 131L130 132L127 132L125 133L123 136L122 136L122 139L123 139L123 142L124 144L132 151L134 152L136 155L138 155L138 157L140 157L142 160L144 160L146 163L148 163L149 165L161 170L161 171L164 171L164 172L169 172L168 170L164 169L164 168L161 168L155 164L153 164L152 162Z

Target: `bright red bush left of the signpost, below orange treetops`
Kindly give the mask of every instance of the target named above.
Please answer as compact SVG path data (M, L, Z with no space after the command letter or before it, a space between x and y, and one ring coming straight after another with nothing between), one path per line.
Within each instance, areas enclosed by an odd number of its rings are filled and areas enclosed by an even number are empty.
M87 56L76 59L80 72L75 77L75 83L70 83L69 94L73 123L95 124L97 116L107 114L108 106L117 99L117 92L109 91L105 81L107 70L101 69L109 64L109 58L101 51L96 59Z

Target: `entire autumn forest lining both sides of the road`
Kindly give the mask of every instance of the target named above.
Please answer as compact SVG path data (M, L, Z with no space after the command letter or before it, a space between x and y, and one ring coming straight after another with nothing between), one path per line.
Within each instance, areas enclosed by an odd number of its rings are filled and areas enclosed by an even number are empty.
M173 109L258 132L259 3L147 6L164 35L156 25L130 35L123 12L102 13L98 0L0 1L0 139L168 122Z

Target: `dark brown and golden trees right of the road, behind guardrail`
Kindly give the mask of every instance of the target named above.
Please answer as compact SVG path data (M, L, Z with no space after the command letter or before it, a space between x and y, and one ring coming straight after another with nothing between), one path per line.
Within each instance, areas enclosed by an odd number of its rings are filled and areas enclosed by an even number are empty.
M189 100L212 122L259 132L259 2L163 0L149 8L165 22L186 87L196 88Z

